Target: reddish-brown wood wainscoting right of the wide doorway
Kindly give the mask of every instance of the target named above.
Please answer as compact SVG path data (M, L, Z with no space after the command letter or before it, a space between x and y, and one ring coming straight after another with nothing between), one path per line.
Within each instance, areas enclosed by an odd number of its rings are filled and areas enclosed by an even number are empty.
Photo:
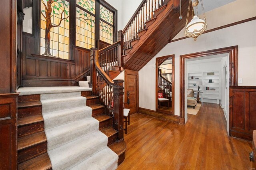
M256 130L256 86L231 86L229 97L230 136L252 141Z

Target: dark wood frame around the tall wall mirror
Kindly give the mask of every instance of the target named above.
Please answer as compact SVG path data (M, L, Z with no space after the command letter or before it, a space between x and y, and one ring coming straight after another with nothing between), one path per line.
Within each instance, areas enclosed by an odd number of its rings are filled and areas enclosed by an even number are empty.
M169 112L169 111L163 111L161 109L158 109L158 94L157 94L157 91L158 91L158 59L164 59L164 58L170 58L172 57L172 111ZM157 112L161 112L161 113L166 113L166 114L172 114L174 115L174 98L175 98L175 67L174 67L174 57L175 55L172 54L172 55L166 55L166 56L162 56L162 57L157 57L156 58L156 111Z

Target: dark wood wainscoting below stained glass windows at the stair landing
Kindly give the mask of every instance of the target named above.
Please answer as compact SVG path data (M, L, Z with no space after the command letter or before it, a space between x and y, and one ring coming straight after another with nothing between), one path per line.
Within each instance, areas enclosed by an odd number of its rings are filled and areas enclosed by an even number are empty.
M24 87L72 86L90 74L90 50L74 46L74 59L35 55L34 37L24 33L22 85Z

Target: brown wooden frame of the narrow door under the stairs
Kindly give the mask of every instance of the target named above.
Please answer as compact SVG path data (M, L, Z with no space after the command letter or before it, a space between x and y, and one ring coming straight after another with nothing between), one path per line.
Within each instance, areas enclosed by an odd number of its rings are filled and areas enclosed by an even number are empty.
M133 71L133 70L124 70L124 106L127 106L127 87L128 87L128 81L127 81L127 75L136 75L137 77L137 84L136 84L136 98L137 98L137 103L136 103L136 113L139 112L139 72L138 71Z

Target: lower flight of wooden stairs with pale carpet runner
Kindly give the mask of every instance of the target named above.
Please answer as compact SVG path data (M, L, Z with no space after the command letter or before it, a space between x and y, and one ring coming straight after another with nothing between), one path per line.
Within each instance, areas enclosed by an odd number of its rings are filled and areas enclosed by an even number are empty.
M90 88L33 89L19 89L19 170L115 169L122 163L126 144Z

